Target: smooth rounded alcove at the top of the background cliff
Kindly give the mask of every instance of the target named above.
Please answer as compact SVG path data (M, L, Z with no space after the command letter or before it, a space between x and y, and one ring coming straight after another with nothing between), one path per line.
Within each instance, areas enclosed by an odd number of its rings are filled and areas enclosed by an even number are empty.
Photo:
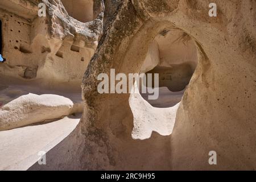
M80 22L90 22L93 20L92 0L61 0L68 15Z

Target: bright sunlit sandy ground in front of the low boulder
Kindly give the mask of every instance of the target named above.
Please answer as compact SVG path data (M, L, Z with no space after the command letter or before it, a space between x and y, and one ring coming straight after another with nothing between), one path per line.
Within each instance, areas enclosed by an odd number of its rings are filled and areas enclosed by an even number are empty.
M66 138L80 118L81 114L77 114L55 122L0 131L0 170L28 169L40 158L39 151L48 152Z

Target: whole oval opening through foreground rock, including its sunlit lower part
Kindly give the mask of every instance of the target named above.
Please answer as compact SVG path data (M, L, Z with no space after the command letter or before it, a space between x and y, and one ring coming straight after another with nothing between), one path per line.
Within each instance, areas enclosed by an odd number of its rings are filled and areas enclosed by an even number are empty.
M146 82L135 82L134 93L129 98L133 113L133 139L148 139L152 131L160 135L172 134L177 109L197 62L196 43L184 31L172 28L155 36L139 71L146 74ZM159 79L156 80L154 74L151 75L152 87L154 92L158 88L158 94L152 94L148 89L143 92L143 85L144 88L151 87L147 85L150 73L158 73ZM158 86L154 81L158 81ZM156 97L150 98L152 95Z

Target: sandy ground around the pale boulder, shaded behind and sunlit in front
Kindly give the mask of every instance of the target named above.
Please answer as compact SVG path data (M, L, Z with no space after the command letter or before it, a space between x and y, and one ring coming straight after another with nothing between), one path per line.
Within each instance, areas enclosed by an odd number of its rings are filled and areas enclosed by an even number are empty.
M62 88L59 90L42 89L38 83L11 80L10 78L8 80L2 79L0 83L0 111L1 107L10 105L11 102L15 102L20 97L30 96L30 94L38 96L50 94L53 97L63 96L81 108L76 108L79 111L76 114L59 119L52 118L45 122L32 123L16 129L0 131L0 170L28 169L38 161L40 157L38 155L39 151L48 152L51 150L66 138L80 121L82 99L79 90L71 92ZM40 111L38 113L44 114L40 113Z

